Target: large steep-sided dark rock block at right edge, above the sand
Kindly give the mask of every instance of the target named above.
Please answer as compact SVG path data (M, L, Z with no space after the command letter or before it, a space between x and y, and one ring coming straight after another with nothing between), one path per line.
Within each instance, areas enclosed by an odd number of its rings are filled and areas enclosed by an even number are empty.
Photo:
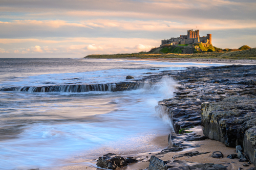
M255 111L255 98L235 96L217 103L203 103L201 106L203 133L210 139L223 142L227 147L243 145L245 154L256 165ZM240 161L246 161L242 148L237 146L236 150Z

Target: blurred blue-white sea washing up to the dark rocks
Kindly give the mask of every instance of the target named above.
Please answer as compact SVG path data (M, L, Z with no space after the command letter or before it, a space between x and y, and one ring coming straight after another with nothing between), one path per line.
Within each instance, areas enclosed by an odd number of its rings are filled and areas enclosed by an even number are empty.
M154 84L145 80L136 89L114 92L115 83L141 80L165 70L219 65L223 64L1 58L0 169L96 168L96 159L109 152L157 151L161 148L151 141L173 129L155 107L158 101L174 96L177 82L165 76ZM126 80L128 75L135 79ZM104 86L94 86L99 84ZM77 91L70 88L73 85L92 88ZM46 92L49 86L55 90ZM36 91L36 87L44 89Z

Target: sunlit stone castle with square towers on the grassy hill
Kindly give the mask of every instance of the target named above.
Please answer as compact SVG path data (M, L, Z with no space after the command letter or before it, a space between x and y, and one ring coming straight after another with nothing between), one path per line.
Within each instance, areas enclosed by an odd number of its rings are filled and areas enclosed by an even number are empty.
M187 35L180 35L178 38L170 38L167 40L162 40L162 45L176 45L176 44L193 44L193 43L202 43L204 46L211 45L211 34L207 36L200 37L199 30L187 30Z

